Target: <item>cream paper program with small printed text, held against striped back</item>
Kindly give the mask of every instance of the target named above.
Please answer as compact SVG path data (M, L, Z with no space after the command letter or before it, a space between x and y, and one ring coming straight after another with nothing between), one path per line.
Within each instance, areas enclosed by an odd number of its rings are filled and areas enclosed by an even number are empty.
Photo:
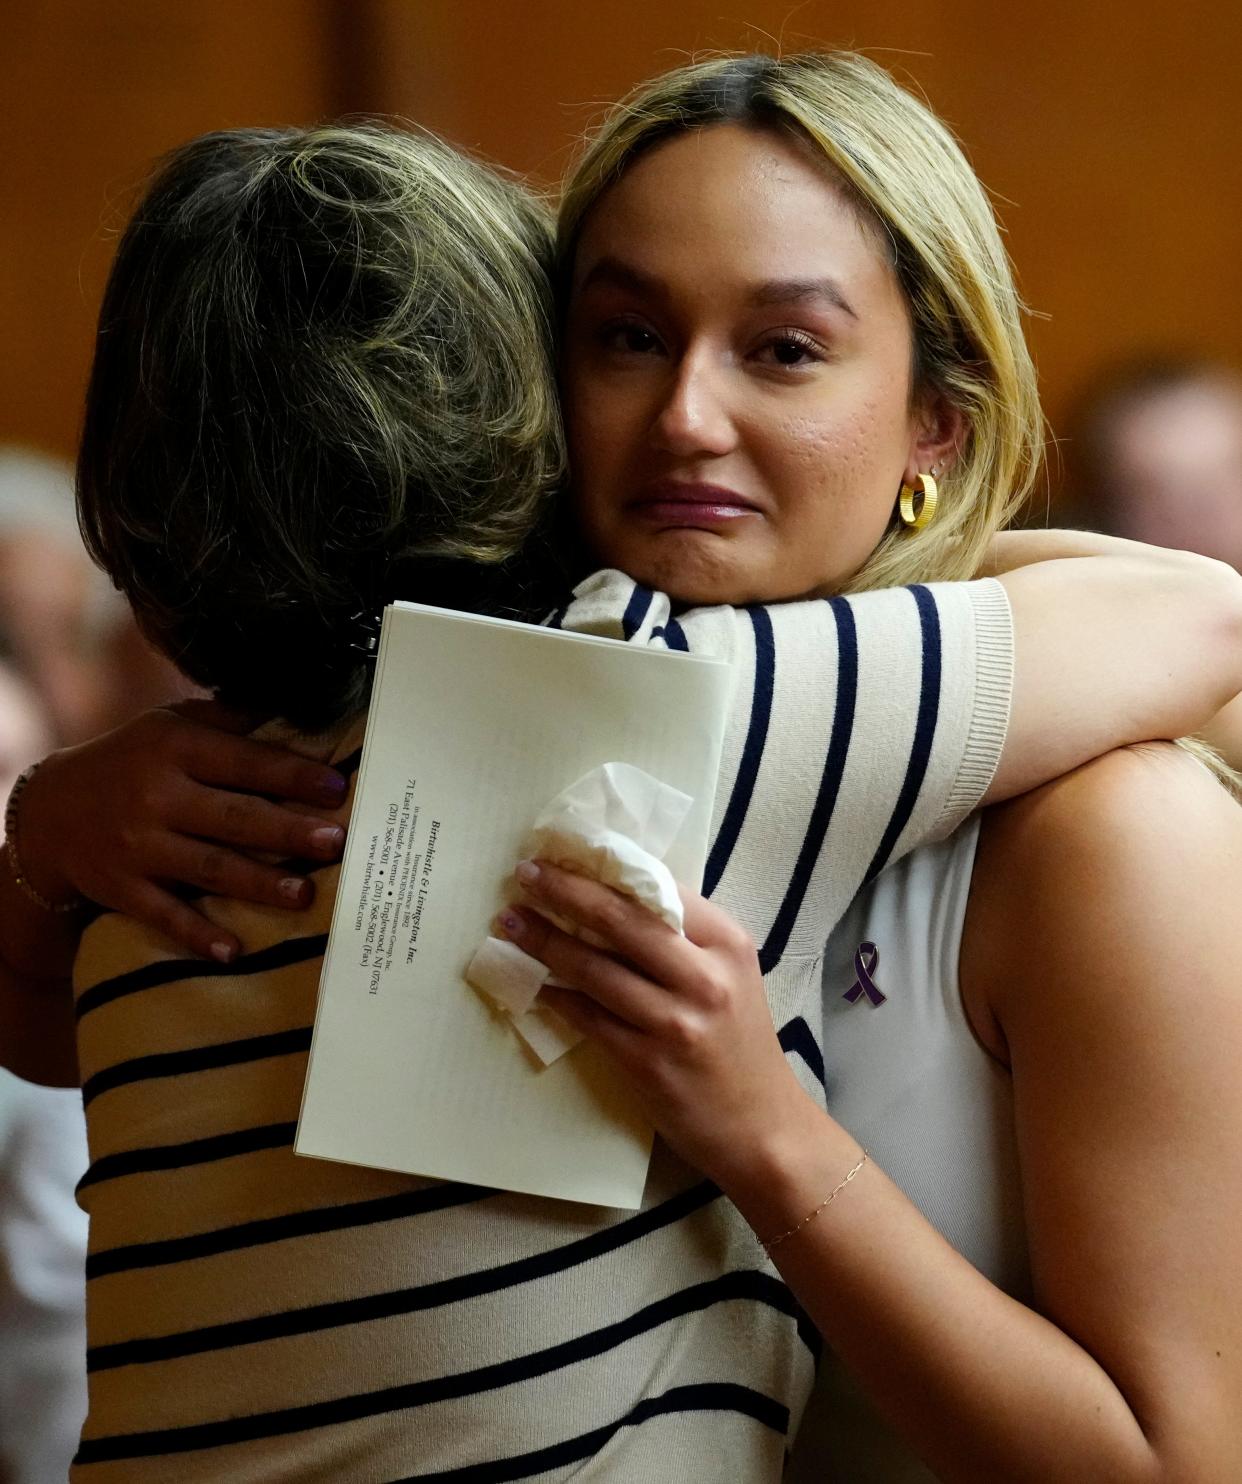
M720 660L386 611L297 1153L641 1202L651 1131L602 1054L543 1067L463 972L536 816L604 763L690 795L666 864L699 883L730 686Z

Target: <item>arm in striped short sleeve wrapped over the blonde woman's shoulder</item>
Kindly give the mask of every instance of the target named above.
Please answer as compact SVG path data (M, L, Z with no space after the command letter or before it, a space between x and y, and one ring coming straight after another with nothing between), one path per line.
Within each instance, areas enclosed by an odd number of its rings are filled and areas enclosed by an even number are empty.
M1242 687L1242 577L1220 562L1074 531L999 555L999 580L683 616L691 650L735 637L705 883L764 968L818 951L865 880L979 803L1193 732ZM791 887L760 899L752 861Z

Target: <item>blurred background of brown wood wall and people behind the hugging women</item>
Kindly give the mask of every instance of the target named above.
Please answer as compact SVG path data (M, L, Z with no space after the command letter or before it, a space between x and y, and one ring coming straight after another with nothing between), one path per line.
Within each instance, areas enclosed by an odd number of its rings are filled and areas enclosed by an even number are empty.
M151 160L206 129L380 114L555 184L697 50L855 46L993 191L1059 445L1033 518L1242 565L1242 7L1229 0L39 0L0 16L0 801L184 686L91 573L71 460L95 315ZM0 1082L0 1481L82 1408L74 1094Z

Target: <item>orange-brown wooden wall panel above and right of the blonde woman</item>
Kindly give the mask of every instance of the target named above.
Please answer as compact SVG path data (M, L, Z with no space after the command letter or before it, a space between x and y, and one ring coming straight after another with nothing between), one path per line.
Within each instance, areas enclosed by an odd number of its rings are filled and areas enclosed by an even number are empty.
M553 180L570 141L694 49L868 50L924 92L997 199L1054 426L1149 347L1242 358L1242 9L1229 0L374 0L383 105Z

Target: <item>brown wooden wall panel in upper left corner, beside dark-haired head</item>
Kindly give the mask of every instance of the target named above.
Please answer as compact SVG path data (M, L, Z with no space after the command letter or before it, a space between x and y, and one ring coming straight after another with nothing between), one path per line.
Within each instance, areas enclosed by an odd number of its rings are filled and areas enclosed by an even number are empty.
M117 226L206 129L309 122L332 68L306 0L15 0L0 56L0 441L73 450Z

